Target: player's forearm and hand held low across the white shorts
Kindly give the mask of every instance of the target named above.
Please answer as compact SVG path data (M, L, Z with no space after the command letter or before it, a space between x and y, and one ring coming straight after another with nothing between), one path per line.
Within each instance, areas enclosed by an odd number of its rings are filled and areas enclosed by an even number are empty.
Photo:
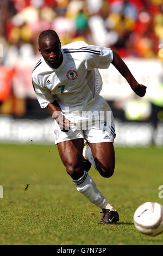
M70 129L71 121L64 118L62 115L61 108L56 100L53 103L48 103L47 109L49 114L57 121L62 131L67 131Z

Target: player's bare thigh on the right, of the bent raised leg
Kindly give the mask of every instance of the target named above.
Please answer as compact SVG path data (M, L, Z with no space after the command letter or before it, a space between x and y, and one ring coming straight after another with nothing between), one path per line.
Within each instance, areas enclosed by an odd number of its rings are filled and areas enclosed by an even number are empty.
M115 168L115 150L112 142L89 143L96 167L102 176L110 177Z

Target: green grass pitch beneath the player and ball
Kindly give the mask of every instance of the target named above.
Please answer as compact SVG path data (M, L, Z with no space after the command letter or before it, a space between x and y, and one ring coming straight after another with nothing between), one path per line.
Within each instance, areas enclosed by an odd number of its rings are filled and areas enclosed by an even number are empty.
M73 185L53 145L0 144L0 245L162 245L133 224L136 208L159 198L162 148L115 148L116 168L103 178L89 174L116 208L120 222L98 225L101 209Z

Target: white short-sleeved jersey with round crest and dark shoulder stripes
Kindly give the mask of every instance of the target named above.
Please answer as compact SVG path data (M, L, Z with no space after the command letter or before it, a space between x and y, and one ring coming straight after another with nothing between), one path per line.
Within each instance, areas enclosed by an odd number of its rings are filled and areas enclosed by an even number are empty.
M58 69L47 65L43 57L37 62L32 82L41 108L57 100L62 112L83 111L95 102L102 88L99 69L112 62L110 48L73 42L61 48L63 61Z

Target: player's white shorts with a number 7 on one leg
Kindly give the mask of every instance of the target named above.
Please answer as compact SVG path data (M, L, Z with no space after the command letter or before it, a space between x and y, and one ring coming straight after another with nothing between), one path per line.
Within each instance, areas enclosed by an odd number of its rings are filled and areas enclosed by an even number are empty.
M85 111L64 113L64 117L72 122L71 129L61 131L57 121L53 121L55 144L72 139L83 138L90 143L114 142L115 123L111 108L103 97L98 96L96 102Z

